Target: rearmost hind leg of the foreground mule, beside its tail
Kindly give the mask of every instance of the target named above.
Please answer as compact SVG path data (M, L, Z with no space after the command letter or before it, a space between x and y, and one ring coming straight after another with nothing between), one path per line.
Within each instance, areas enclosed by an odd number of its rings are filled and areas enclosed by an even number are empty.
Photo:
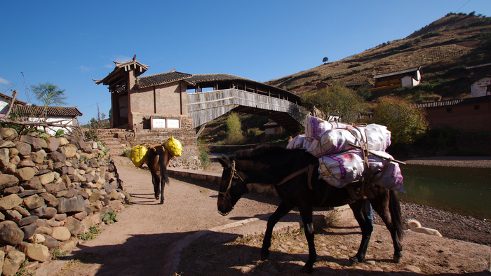
M394 191L388 191L371 200L372 207L384 221L387 230L391 233L392 243L394 244L394 261L398 263L403 254L401 240L403 238L403 225L401 218L401 205L398 196Z

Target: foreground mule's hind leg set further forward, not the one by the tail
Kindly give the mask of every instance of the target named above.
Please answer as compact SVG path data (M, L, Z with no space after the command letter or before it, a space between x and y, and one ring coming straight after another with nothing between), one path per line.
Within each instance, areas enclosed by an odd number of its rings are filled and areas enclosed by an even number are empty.
M367 253L368 242L370 242L373 226L368 218L368 214L365 212L365 200L357 200L351 203L349 207L351 207L355 219L358 221L361 229L361 243L360 247L358 248L358 253L349 258L349 261L351 261L351 263L360 263L365 260L365 254Z

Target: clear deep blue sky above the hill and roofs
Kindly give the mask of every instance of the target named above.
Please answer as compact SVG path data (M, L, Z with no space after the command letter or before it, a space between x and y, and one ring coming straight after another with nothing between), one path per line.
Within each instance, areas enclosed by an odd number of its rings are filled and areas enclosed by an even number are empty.
M65 89L87 123L111 101L113 61L269 81L403 39L450 12L491 16L490 0L0 1L0 92ZM22 73L21 73L22 72ZM29 95L31 96L29 99Z

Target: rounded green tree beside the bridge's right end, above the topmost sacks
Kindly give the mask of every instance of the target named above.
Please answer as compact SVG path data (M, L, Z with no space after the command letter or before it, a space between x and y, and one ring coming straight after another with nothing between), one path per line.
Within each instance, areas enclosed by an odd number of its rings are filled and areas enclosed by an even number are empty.
M325 120L334 120L339 117L347 123L354 123L360 113L367 109L363 97L340 83L336 83L328 89L309 93L304 96L302 101L312 113L315 110L320 111L321 117Z

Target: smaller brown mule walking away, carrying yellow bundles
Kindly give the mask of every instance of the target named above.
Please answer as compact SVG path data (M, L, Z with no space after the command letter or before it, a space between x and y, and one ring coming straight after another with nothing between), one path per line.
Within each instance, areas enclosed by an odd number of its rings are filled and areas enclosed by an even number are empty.
M163 204L163 187L169 184L167 166L172 156L163 145L153 145L148 148L147 164L152 173L152 184L154 184L155 199Z

